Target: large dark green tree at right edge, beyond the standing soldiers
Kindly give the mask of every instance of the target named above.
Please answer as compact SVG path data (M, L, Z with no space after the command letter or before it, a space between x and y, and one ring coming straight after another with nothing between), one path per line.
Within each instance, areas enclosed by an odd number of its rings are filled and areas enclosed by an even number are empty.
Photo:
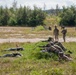
M63 7L63 12L60 15L60 25L75 26L76 25L76 7Z

